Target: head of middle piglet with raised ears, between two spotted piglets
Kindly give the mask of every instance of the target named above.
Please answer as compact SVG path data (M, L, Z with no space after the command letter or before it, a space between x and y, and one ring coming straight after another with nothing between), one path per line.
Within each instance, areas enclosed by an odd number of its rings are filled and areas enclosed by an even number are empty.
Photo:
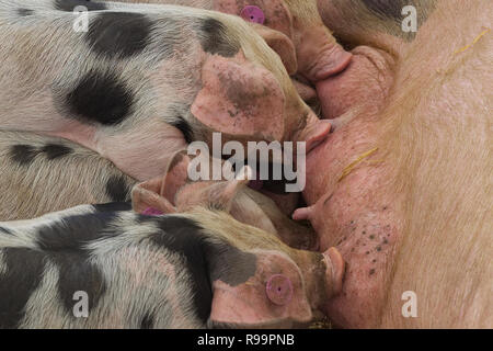
M131 192L134 210L138 213L174 214L195 206L207 207L227 196L231 201L226 202L228 206L223 210L234 219L271 233L291 248L318 249L317 235L311 227L291 220L273 200L249 188L249 181L192 182L188 180L191 162L186 152L179 152L163 177L136 185ZM243 171L251 170L243 168ZM240 172L239 177L251 176Z

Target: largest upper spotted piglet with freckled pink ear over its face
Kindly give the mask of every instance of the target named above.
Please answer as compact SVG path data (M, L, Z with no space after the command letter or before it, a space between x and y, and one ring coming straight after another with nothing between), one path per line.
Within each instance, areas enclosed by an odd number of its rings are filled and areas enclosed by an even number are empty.
M89 12L73 13L77 4ZM259 33L293 48L285 35ZM211 143L213 132L223 141L309 145L330 132L283 65L296 53L279 49L282 60L237 16L0 0L0 129L72 140L140 181L162 174L188 141Z

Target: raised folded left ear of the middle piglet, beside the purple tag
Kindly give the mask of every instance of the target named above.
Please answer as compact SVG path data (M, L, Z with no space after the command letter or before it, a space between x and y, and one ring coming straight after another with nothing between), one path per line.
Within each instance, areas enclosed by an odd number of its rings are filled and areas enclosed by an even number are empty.
M131 191L135 212L141 214L176 213L174 196L186 183L190 158L182 150L173 157L165 176L137 184Z

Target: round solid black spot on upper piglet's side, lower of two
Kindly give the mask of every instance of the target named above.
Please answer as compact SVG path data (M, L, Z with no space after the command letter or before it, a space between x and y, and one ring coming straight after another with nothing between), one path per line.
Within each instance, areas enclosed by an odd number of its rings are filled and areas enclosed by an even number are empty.
M122 123L133 110L134 94L115 75L90 71L64 99L68 112L83 122Z

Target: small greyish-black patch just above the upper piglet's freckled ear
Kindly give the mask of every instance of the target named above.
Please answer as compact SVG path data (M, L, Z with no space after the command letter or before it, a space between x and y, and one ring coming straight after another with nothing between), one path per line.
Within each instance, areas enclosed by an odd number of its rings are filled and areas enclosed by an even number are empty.
M240 50L240 44L231 39L226 26L216 19L204 20L200 32L200 44L206 53L232 57Z

